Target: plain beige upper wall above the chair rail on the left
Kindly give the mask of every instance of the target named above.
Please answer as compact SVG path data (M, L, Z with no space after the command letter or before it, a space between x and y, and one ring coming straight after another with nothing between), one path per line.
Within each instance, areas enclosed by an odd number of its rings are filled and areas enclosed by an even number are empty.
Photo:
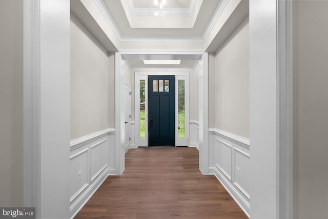
M109 127L109 57L71 13L71 139ZM111 103L113 105L113 103Z

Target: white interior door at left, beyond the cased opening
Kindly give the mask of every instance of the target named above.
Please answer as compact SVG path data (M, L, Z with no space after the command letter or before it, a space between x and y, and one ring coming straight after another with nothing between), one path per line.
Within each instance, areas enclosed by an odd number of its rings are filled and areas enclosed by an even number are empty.
M125 83L125 152L131 148L131 85Z

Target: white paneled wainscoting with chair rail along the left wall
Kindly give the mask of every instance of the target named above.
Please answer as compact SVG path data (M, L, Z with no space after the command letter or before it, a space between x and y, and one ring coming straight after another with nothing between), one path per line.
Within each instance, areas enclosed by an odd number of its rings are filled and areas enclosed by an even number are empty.
M105 129L70 142L70 216L115 173L115 130Z

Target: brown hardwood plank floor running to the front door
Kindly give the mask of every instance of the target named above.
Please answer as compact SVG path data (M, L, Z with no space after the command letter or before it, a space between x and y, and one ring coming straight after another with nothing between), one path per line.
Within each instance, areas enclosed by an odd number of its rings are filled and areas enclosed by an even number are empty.
M138 148L75 218L248 217L215 176L200 173L196 148Z

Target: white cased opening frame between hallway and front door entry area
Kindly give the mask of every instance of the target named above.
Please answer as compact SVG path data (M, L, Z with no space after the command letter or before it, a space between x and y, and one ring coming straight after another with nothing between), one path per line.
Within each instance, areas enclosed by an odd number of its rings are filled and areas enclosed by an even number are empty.
M147 51L147 50L124 50L115 54L115 171L117 175L124 171L125 134L122 130L124 113L121 99L124 98L125 67L124 57L129 55L189 55L197 57L199 65L199 169L202 174L209 173L209 127L208 127L208 53L199 50L172 50L172 51ZM172 73L171 73L172 74ZM137 87L135 87L137 88ZM137 115L136 115L137 116ZM136 122L136 121L135 121ZM137 124L136 124L137 126Z

